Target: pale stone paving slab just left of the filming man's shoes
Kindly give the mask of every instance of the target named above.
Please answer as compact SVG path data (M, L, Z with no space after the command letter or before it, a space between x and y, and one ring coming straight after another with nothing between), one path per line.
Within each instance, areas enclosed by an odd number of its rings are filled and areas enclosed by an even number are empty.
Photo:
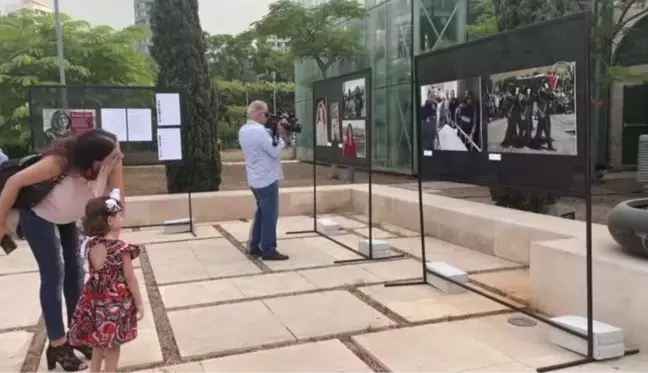
M260 273L224 238L147 245L158 284Z

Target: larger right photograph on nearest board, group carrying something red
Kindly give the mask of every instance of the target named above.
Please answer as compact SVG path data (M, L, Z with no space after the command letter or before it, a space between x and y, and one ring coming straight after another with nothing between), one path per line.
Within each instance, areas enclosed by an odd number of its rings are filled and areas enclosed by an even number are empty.
M577 155L575 76L574 62L491 75L488 151Z

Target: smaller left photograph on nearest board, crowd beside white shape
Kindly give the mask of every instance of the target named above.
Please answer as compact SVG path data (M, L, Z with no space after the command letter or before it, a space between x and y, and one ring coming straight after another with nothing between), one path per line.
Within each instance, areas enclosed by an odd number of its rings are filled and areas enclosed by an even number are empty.
M480 79L426 84L420 89L423 150L480 152Z

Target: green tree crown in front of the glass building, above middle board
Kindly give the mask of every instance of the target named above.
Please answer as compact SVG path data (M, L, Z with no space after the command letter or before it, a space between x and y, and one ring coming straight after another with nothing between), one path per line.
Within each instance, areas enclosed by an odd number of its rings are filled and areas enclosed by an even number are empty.
M360 52L360 33L342 24L364 16L364 6L356 0L329 0L316 6L279 0L270 4L254 29L257 35L289 40L290 53L300 60L313 59L326 77L335 62Z

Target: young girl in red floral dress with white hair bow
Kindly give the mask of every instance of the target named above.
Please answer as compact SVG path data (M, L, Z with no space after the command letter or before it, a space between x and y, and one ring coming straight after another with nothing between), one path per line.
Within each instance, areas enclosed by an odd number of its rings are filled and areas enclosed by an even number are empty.
M88 259L83 287L68 339L72 346L92 347L90 373L116 373L120 346L137 337L143 316L142 296L133 270L138 246L119 240L123 223L119 190L88 202L83 219L86 236L81 256ZM48 361L50 369L54 362Z

